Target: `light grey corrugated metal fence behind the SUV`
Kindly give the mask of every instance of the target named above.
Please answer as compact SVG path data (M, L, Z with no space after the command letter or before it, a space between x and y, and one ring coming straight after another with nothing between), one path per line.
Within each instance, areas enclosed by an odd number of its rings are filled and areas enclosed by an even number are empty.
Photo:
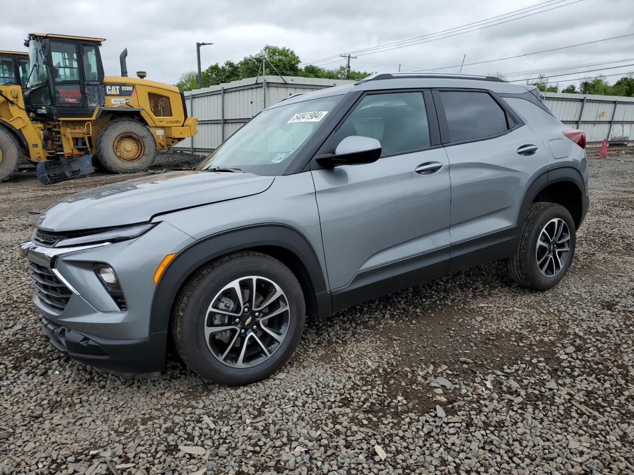
M174 149L205 153L223 143L262 109L299 92L311 92L354 81L264 76L185 92L188 114L198 117L198 134ZM634 98L548 92L542 96L564 124L586 131L588 143L634 144Z

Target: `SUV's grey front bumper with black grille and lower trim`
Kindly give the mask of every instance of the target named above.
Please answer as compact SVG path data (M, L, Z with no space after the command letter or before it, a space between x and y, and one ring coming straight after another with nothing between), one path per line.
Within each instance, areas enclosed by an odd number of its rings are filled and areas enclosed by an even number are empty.
M136 374L162 371L168 322L153 324L150 333L153 274L166 254L191 241L162 222L138 238L112 244L22 244L44 334L58 350L86 364ZM115 270L126 307L119 308L96 277L95 263Z

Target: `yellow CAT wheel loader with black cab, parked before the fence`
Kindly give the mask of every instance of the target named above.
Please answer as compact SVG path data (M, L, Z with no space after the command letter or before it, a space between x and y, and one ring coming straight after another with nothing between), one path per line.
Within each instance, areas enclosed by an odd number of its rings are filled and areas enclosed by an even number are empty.
M0 181L21 158L37 163L44 183L94 171L93 159L113 173L152 165L157 149L192 137L197 119L187 117L178 87L103 73L105 39L29 34L30 72L20 84L0 85Z

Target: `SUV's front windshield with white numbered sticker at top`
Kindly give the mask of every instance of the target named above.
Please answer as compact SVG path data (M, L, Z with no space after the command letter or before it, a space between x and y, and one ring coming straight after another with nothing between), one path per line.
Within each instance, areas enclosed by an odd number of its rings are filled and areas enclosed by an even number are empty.
M278 175L342 96L313 99L262 111L210 153L197 170L240 168Z

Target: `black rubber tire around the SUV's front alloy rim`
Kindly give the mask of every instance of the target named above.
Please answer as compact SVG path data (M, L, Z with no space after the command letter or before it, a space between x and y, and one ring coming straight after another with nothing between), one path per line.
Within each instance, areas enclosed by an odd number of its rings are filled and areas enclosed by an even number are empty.
M275 352L259 364L238 368L214 356L203 329L212 300L230 282L246 276L261 276L275 282L287 297L290 310L286 336ZM210 264L186 284L174 311L172 334L179 356L191 371L213 383L242 386L270 376L287 362L299 344L305 315L302 288L283 263L261 253L241 252Z

